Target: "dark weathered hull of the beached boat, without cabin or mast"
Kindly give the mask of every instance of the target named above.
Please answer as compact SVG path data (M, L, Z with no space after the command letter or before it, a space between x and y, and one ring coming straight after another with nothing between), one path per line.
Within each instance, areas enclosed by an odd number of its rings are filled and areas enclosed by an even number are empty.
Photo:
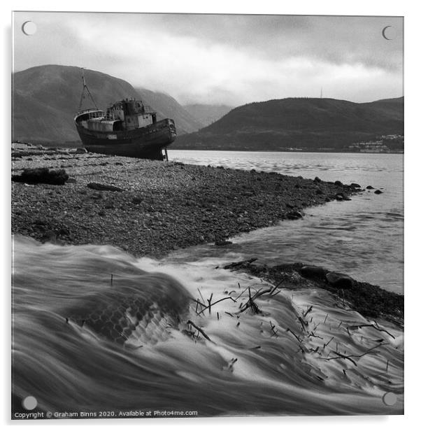
M162 149L176 140L173 120L161 120L147 127L102 132L90 130L76 120L83 146L91 153L163 160Z

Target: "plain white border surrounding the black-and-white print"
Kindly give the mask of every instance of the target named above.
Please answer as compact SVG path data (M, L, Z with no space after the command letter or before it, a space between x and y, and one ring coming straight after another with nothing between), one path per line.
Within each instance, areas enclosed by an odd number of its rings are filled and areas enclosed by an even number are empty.
M118 7L116 6L118 5ZM159 4L159 6L157 6ZM241 429L251 430L258 425L264 426L265 430L279 430L307 428L312 431L318 430L352 430L357 427L367 427L371 430L382 429L395 431L399 426L408 426L408 420L415 424L418 410L418 356L416 347L420 344L418 332L418 311L420 302L420 288L417 271L419 267L416 239L418 238L418 201L419 188L415 188L418 182L415 173L418 173L420 164L420 127L417 123L420 111L420 91L419 75L420 64L418 62L419 50L419 27L420 15L416 9L415 2L410 1L366 1L352 0L350 2L338 1L243 1L241 3L229 0L213 0L212 2L194 2L184 0L160 0L153 2L116 3L115 1L101 0L99 3L72 0L69 3L58 3L57 1L8 1L1 5L1 23L3 43L1 44L3 69L3 103L1 104L1 119L3 129L3 142L1 146L1 160L3 169L1 171L1 203L3 204L3 224L2 241L3 244L3 329L6 332L3 344L3 355L1 363L3 365L4 379L1 390L1 418L3 423L17 426L26 425L45 427L71 425L78 428L103 428L104 426L136 426L141 428L155 428L157 426L169 425L171 428L213 428L234 427L238 425ZM98 10L97 8L100 8ZM405 197L406 197L406 223L405 223L405 278L406 295L411 299L406 299L406 404L405 416L347 416L347 417L276 417L276 418L209 418L209 419L154 419L152 421L130 420L78 420L78 421L27 421L24 423L9 420L10 418L10 69L11 69L11 31L10 31L10 11L11 10L62 10L62 11L92 11L97 9L101 12L172 12L172 13L273 13L273 14L296 14L296 15L394 15L405 16L405 135L406 135L406 155L405 155ZM418 103L417 103L418 102ZM415 117L416 115L416 117ZM418 120L418 121L417 121ZM418 148L417 148L418 146ZM404 424L405 422L405 424Z

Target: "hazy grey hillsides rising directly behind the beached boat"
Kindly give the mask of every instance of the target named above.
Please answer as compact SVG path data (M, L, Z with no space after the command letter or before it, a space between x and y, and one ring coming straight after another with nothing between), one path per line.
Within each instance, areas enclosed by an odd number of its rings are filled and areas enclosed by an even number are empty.
M99 108L127 97L138 97L157 111L157 118L172 118L178 134L194 132L201 124L175 99L149 90L136 91L126 81L85 70L85 80ZM79 141L73 117L78 110L82 78L79 67L45 65L13 75L12 139L65 143ZM83 108L93 107L85 99Z

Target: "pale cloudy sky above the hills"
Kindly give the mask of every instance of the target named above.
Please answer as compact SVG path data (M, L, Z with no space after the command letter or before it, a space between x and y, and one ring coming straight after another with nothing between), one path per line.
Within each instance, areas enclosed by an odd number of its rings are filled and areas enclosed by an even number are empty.
M17 12L13 20L14 71L80 66L181 104L321 93L364 102L404 91L402 17ZM35 34L22 31L27 21Z

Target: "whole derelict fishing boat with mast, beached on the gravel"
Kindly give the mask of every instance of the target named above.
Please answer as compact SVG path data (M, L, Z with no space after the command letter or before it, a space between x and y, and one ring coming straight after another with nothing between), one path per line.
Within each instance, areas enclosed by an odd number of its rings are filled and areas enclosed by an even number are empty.
M95 108L80 111L85 92ZM74 120L83 146L92 153L168 160L166 147L177 136L173 120L157 121L156 111L136 99L117 101L102 111L90 94L84 77L79 110Z

